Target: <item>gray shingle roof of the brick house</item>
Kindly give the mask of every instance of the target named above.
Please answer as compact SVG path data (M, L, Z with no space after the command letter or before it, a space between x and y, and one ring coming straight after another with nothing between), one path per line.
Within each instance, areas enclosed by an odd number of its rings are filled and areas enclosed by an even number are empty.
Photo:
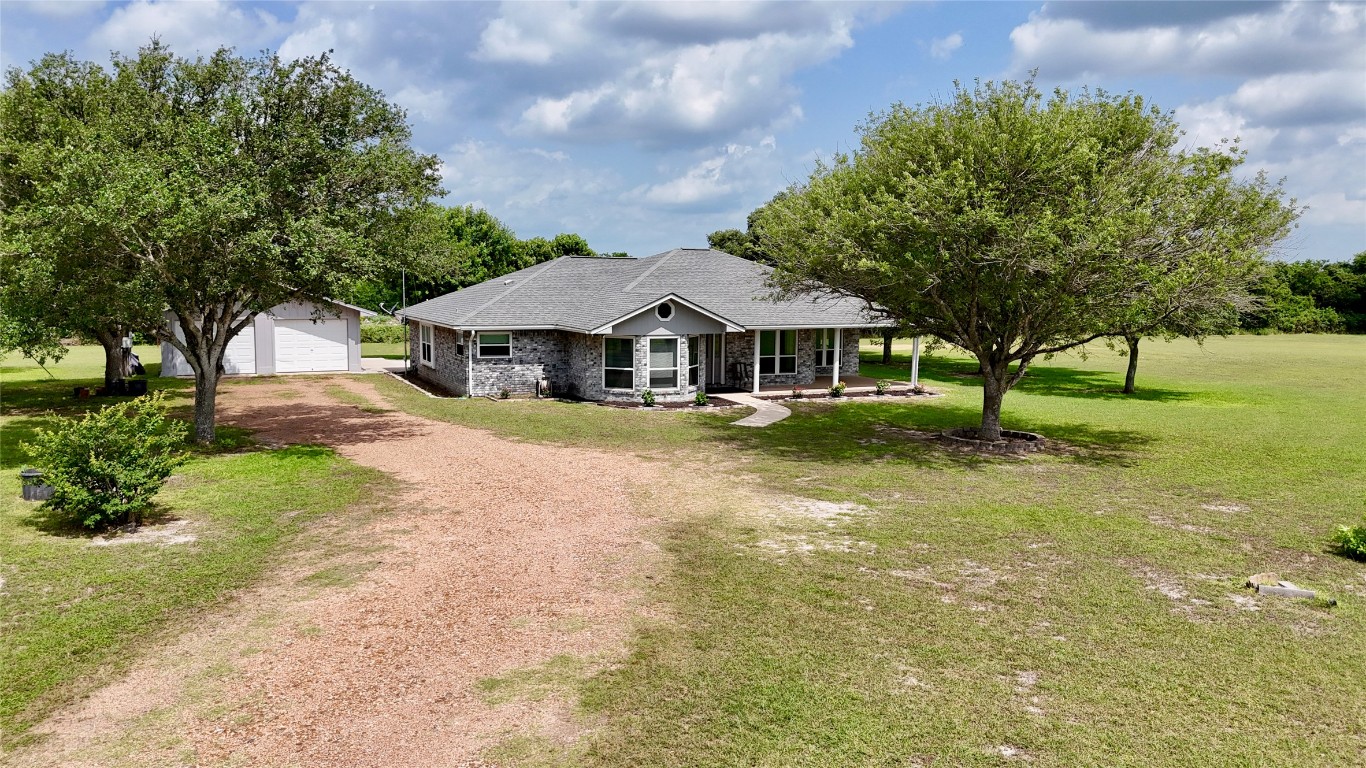
M773 301L772 268L719 250L673 249L646 258L561 257L413 305L400 316L449 328L591 332L669 294L742 327L885 325L835 295Z

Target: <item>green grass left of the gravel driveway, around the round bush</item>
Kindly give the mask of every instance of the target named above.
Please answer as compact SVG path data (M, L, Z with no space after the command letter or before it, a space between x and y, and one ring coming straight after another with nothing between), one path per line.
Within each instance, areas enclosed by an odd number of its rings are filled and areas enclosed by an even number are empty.
M138 353L154 372L156 348ZM89 534L52 529L38 504L23 502L18 470L27 463L20 443L36 428L109 402L71 398L71 387L98 383L98 347L49 366L59 380L16 358L0 366L0 754L232 589L317 545L320 526L361 519L382 481L325 448L221 452L246 440L220 428L220 452L197 455L157 496L158 521L183 521L193 543L94 547ZM163 387L189 406L184 381L153 380Z

